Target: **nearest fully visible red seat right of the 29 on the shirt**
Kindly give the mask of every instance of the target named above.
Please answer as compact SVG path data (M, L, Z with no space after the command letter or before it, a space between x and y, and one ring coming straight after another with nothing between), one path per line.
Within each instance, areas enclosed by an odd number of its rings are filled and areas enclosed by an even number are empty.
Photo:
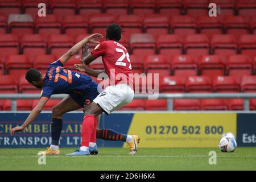
M170 64L164 55L148 55L144 61L146 73L159 73L159 76L170 75Z

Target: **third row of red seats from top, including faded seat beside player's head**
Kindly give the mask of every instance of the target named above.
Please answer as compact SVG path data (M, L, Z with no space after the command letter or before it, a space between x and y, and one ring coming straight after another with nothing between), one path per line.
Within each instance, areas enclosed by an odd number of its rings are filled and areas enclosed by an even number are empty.
M24 53L30 55L30 60L35 54L54 53L61 56L65 51L85 38L88 34L72 39L68 35L51 35L44 39L39 34L23 35L19 39L12 34L0 34L0 60L5 61L10 54ZM48 40L48 41L46 41ZM76 41L74 41L76 40ZM121 44L130 54L152 55L155 53L165 55L188 54L196 57L213 53L214 55L230 55L241 53L254 56L256 50L256 35L241 35L236 40L233 35L213 35L209 41L207 36L201 34L187 35L182 40L178 35L159 35L155 40L150 34L132 34L130 39L122 37ZM90 45L93 46L94 45Z

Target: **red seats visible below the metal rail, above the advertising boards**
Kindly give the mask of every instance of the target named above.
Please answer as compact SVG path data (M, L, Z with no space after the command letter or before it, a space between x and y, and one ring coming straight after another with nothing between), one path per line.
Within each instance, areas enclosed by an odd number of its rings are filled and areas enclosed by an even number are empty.
M60 100L49 100L43 110L52 110ZM31 110L38 100L17 100L17 110ZM175 99L174 110L243 110L242 99ZM10 100L0 100L0 111L11 110ZM167 110L167 100L134 99L119 110ZM250 110L256 110L256 99L250 100Z

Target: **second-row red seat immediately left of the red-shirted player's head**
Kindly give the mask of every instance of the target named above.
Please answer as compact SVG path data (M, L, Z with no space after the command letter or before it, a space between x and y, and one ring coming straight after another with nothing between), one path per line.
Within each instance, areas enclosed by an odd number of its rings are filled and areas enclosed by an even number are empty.
M92 33L105 35L106 27L115 22L115 16L111 14L92 14L90 16L90 28Z

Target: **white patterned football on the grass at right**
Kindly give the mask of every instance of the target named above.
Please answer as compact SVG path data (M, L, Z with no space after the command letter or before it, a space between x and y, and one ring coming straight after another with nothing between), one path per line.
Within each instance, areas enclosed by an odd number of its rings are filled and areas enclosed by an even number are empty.
M218 143L221 152L233 152L237 148L237 142L231 137L222 137Z

